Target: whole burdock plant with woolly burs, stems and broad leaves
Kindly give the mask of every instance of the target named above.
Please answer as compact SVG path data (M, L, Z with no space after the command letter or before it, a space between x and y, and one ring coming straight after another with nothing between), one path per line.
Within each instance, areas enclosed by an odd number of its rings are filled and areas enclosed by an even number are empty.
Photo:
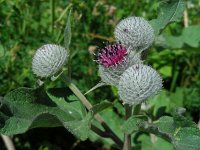
M40 82L43 84L35 88L18 88L0 99L0 133L14 135L36 127L63 126L80 140L98 135L111 139L116 148L123 150L131 150L132 144L140 149L137 138L149 133L171 142L177 150L199 150L199 129L182 115L185 109L175 109L172 116L162 116L156 121L152 121L145 109L141 110L141 105L146 103L148 106L149 97L158 94L163 87L161 75L145 63L143 54L167 24L180 19L183 7L184 2L172 1L163 5L157 19L149 22L142 17L131 16L116 25L115 42L100 48L95 54L95 61L101 85L114 86L118 91L118 102L102 101L95 105L71 80L69 15L65 46L45 44L33 56L32 71L44 83ZM68 66L65 67L65 64ZM47 89L45 80L48 78L52 81L61 79L67 87ZM72 95L78 100L72 99ZM117 131L104 121L105 116L100 115L116 103L121 103L125 110L124 122ZM120 122L117 120L116 124ZM123 133L124 137L116 132Z

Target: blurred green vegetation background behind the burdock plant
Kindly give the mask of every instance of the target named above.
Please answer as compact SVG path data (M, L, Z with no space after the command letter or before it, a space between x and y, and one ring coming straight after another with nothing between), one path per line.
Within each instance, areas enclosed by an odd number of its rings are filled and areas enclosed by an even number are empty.
M68 6L72 6L72 79L82 92L96 85L97 64L91 53L114 41L116 24L127 16L156 18L159 0L0 0L0 96L18 87L33 87L34 52L47 43L64 45ZM200 119L200 1L188 0L182 21L170 24L156 38L145 63L164 78L164 89L149 101L153 118L185 107L187 117ZM49 83L65 86L61 82ZM87 95L92 103L117 99L116 89L104 87ZM118 109L118 107L116 107ZM14 136L17 149L102 149L101 142L77 141L63 128L33 129ZM79 143L80 142L80 143ZM76 145L77 144L77 145ZM75 145L73 147L73 145ZM0 141L0 149L5 149Z

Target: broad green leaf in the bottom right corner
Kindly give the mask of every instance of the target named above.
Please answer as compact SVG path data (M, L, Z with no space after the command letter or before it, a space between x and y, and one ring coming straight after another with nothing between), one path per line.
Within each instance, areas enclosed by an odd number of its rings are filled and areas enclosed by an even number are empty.
M174 118L163 116L154 123L142 122L139 129L166 139L176 150L200 149L200 130L194 122L178 113Z

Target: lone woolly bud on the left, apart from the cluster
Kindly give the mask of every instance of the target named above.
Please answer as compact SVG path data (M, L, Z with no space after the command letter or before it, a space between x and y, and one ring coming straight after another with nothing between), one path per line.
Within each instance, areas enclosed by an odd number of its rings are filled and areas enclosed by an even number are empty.
M67 56L65 48L55 44L46 44L37 49L33 57L33 73L39 77L50 77L62 68Z

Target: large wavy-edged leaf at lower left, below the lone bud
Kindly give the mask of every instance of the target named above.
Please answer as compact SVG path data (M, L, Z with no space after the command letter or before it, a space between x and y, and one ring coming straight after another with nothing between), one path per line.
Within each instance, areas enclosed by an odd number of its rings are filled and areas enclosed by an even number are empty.
M0 133L14 135L37 127L64 126L77 138L87 139L92 115L81 114L79 101L64 102L64 95L59 93L69 94L70 90L53 91L48 92L53 100L42 87L9 92L0 108Z

